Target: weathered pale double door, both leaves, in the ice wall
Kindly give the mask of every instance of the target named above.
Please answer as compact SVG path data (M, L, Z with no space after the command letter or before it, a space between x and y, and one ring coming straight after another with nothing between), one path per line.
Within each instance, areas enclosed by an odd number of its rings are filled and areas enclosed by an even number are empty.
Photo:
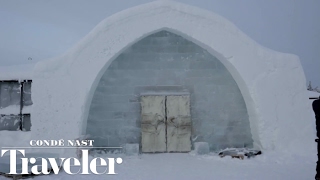
M141 96L142 152L191 151L188 95Z

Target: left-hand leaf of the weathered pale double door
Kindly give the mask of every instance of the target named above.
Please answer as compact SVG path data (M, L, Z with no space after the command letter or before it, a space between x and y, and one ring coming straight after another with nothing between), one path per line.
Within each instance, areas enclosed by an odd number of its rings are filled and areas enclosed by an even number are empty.
M165 96L141 96L141 108L142 152L165 152Z

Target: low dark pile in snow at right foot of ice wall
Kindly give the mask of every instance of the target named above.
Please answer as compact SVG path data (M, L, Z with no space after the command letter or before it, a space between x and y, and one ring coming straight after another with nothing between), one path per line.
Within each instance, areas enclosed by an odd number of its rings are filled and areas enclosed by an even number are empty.
M254 157L262 154L259 150L250 150L244 148L227 148L219 152L220 157L231 156L232 158L244 159L244 157Z

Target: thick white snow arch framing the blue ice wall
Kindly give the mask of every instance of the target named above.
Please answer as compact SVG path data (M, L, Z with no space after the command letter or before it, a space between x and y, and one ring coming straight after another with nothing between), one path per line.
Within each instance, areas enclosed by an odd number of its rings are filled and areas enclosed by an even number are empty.
M314 117L299 58L260 46L218 15L172 1L119 12L64 55L38 63L33 138L74 139L85 133L93 94L111 62L161 30L192 41L226 67L243 95L256 148L315 153Z

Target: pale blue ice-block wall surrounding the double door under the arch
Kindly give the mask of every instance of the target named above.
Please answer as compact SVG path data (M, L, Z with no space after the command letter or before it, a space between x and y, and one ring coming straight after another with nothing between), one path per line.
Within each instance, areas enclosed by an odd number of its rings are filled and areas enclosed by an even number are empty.
M193 142L208 142L212 151L252 147L246 105L231 74L205 49L167 31L129 47L102 76L86 130L96 145L140 143L145 93L190 94Z

